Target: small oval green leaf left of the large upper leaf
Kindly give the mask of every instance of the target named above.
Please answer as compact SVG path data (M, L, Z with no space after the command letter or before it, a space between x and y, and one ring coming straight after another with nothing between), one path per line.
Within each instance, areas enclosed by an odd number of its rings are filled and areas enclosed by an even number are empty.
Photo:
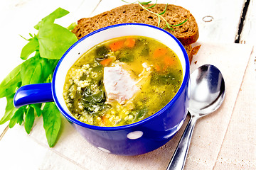
M29 55L39 50L38 38L33 37L21 50L21 59L26 60Z

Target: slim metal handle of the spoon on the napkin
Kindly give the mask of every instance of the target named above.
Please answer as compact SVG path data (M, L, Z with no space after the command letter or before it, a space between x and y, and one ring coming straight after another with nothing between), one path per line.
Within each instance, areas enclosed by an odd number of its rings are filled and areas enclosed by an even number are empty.
M178 147L174 152L174 156L171 158L171 162L169 163L167 170L183 169L188 154L188 148L191 142L193 129L196 125L196 120L198 120L198 117L191 115L191 119L189 120L188 125L183 132L180 142L178 142Z

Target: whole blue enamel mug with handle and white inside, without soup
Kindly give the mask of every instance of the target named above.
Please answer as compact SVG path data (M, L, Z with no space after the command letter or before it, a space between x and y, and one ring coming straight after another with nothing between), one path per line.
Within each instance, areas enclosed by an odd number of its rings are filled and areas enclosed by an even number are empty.
M98 127L82 123L68 111L63 98L63 86L68 69L93 46L121 36L142 35L164 43L178 55L183 68L183 81L176 96L149 118L119 127ZM174 35L166 30L141 23L124 23L96 30L75 42L58 62L49 84L22 86L14 97L17 108L30 103L54 101L60 112L92 145L103 152L138 155L166 144L183 125L188 106L189 61L186 50Z

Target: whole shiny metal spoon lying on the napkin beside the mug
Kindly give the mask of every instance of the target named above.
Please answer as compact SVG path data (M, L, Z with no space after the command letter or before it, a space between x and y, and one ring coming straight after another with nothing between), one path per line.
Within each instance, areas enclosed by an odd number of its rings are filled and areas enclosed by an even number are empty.
M183 169L196 120L216 111L223 103L225 82L220 70L210 64L196 69L191 74L190 92L188 111L191 114L191 119L183 132L174 156L171 158L168 170Z

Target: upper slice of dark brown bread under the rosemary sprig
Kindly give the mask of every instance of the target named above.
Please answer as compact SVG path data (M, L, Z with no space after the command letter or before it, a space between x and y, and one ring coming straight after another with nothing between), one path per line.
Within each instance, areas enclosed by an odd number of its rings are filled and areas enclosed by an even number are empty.
M149 6L150 5L152 4L149 4ZM165 6L166 4L156 4L156 6L149 8L149 10L155 13L161 13L164 11ZM166 8L166 12L162 16L171 25L182 23L186 21L186 19L188 20L181 26L172 27L174 30L166 28L166 30L178 38L183 45L190 45L198 40L198 25L196 19L188 10L181 6L169 4ZM93 16L92 18L82 18L78 21L78 26L76 26L72 32L80 39L87 35L87 33L117 23L147 23L157 26L158 21L156 15L144 10L138 4L129 4L119 6L111 11ZM159 27L164 28L165 26L164 21L161 21Z

